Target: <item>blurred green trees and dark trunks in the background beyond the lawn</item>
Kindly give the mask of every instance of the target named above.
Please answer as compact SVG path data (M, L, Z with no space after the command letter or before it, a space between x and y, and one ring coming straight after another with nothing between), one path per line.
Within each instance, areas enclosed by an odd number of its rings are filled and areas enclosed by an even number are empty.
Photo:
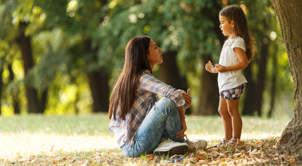
M154 75L192 90L188 113L218 115L218 63L226 38L218 12L238 4L256 39L243 70L242 115L293 116L294 85L270 0L1 0L1 115L107 112L127 42L150 36L163 49Z

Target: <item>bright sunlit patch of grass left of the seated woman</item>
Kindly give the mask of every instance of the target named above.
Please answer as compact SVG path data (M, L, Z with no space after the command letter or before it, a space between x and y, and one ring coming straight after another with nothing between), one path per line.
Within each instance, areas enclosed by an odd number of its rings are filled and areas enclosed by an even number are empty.
M28 158L32 155L53 156L58 152L69 153L117 147L112 136L65 136L55 133L22 132L1 133L0 140L5 143L0 143L0 158L7 160Z

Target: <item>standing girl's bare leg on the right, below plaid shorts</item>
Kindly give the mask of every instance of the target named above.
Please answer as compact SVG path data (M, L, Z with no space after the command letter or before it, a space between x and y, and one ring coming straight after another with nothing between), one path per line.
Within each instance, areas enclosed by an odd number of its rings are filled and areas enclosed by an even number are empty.
M237 100L226 100L228 105L228 111L232 117L233 125L233 138L240 139L241 129L242 129L242 120L239 115L239 99Z

